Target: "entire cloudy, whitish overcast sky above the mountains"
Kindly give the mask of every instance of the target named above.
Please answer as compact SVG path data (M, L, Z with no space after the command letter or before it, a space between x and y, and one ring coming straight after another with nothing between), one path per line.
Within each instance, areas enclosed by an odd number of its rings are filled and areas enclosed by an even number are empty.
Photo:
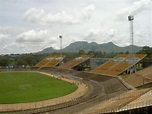
M75 41L152 47L152 0L0 0L0 54L60 48Z

